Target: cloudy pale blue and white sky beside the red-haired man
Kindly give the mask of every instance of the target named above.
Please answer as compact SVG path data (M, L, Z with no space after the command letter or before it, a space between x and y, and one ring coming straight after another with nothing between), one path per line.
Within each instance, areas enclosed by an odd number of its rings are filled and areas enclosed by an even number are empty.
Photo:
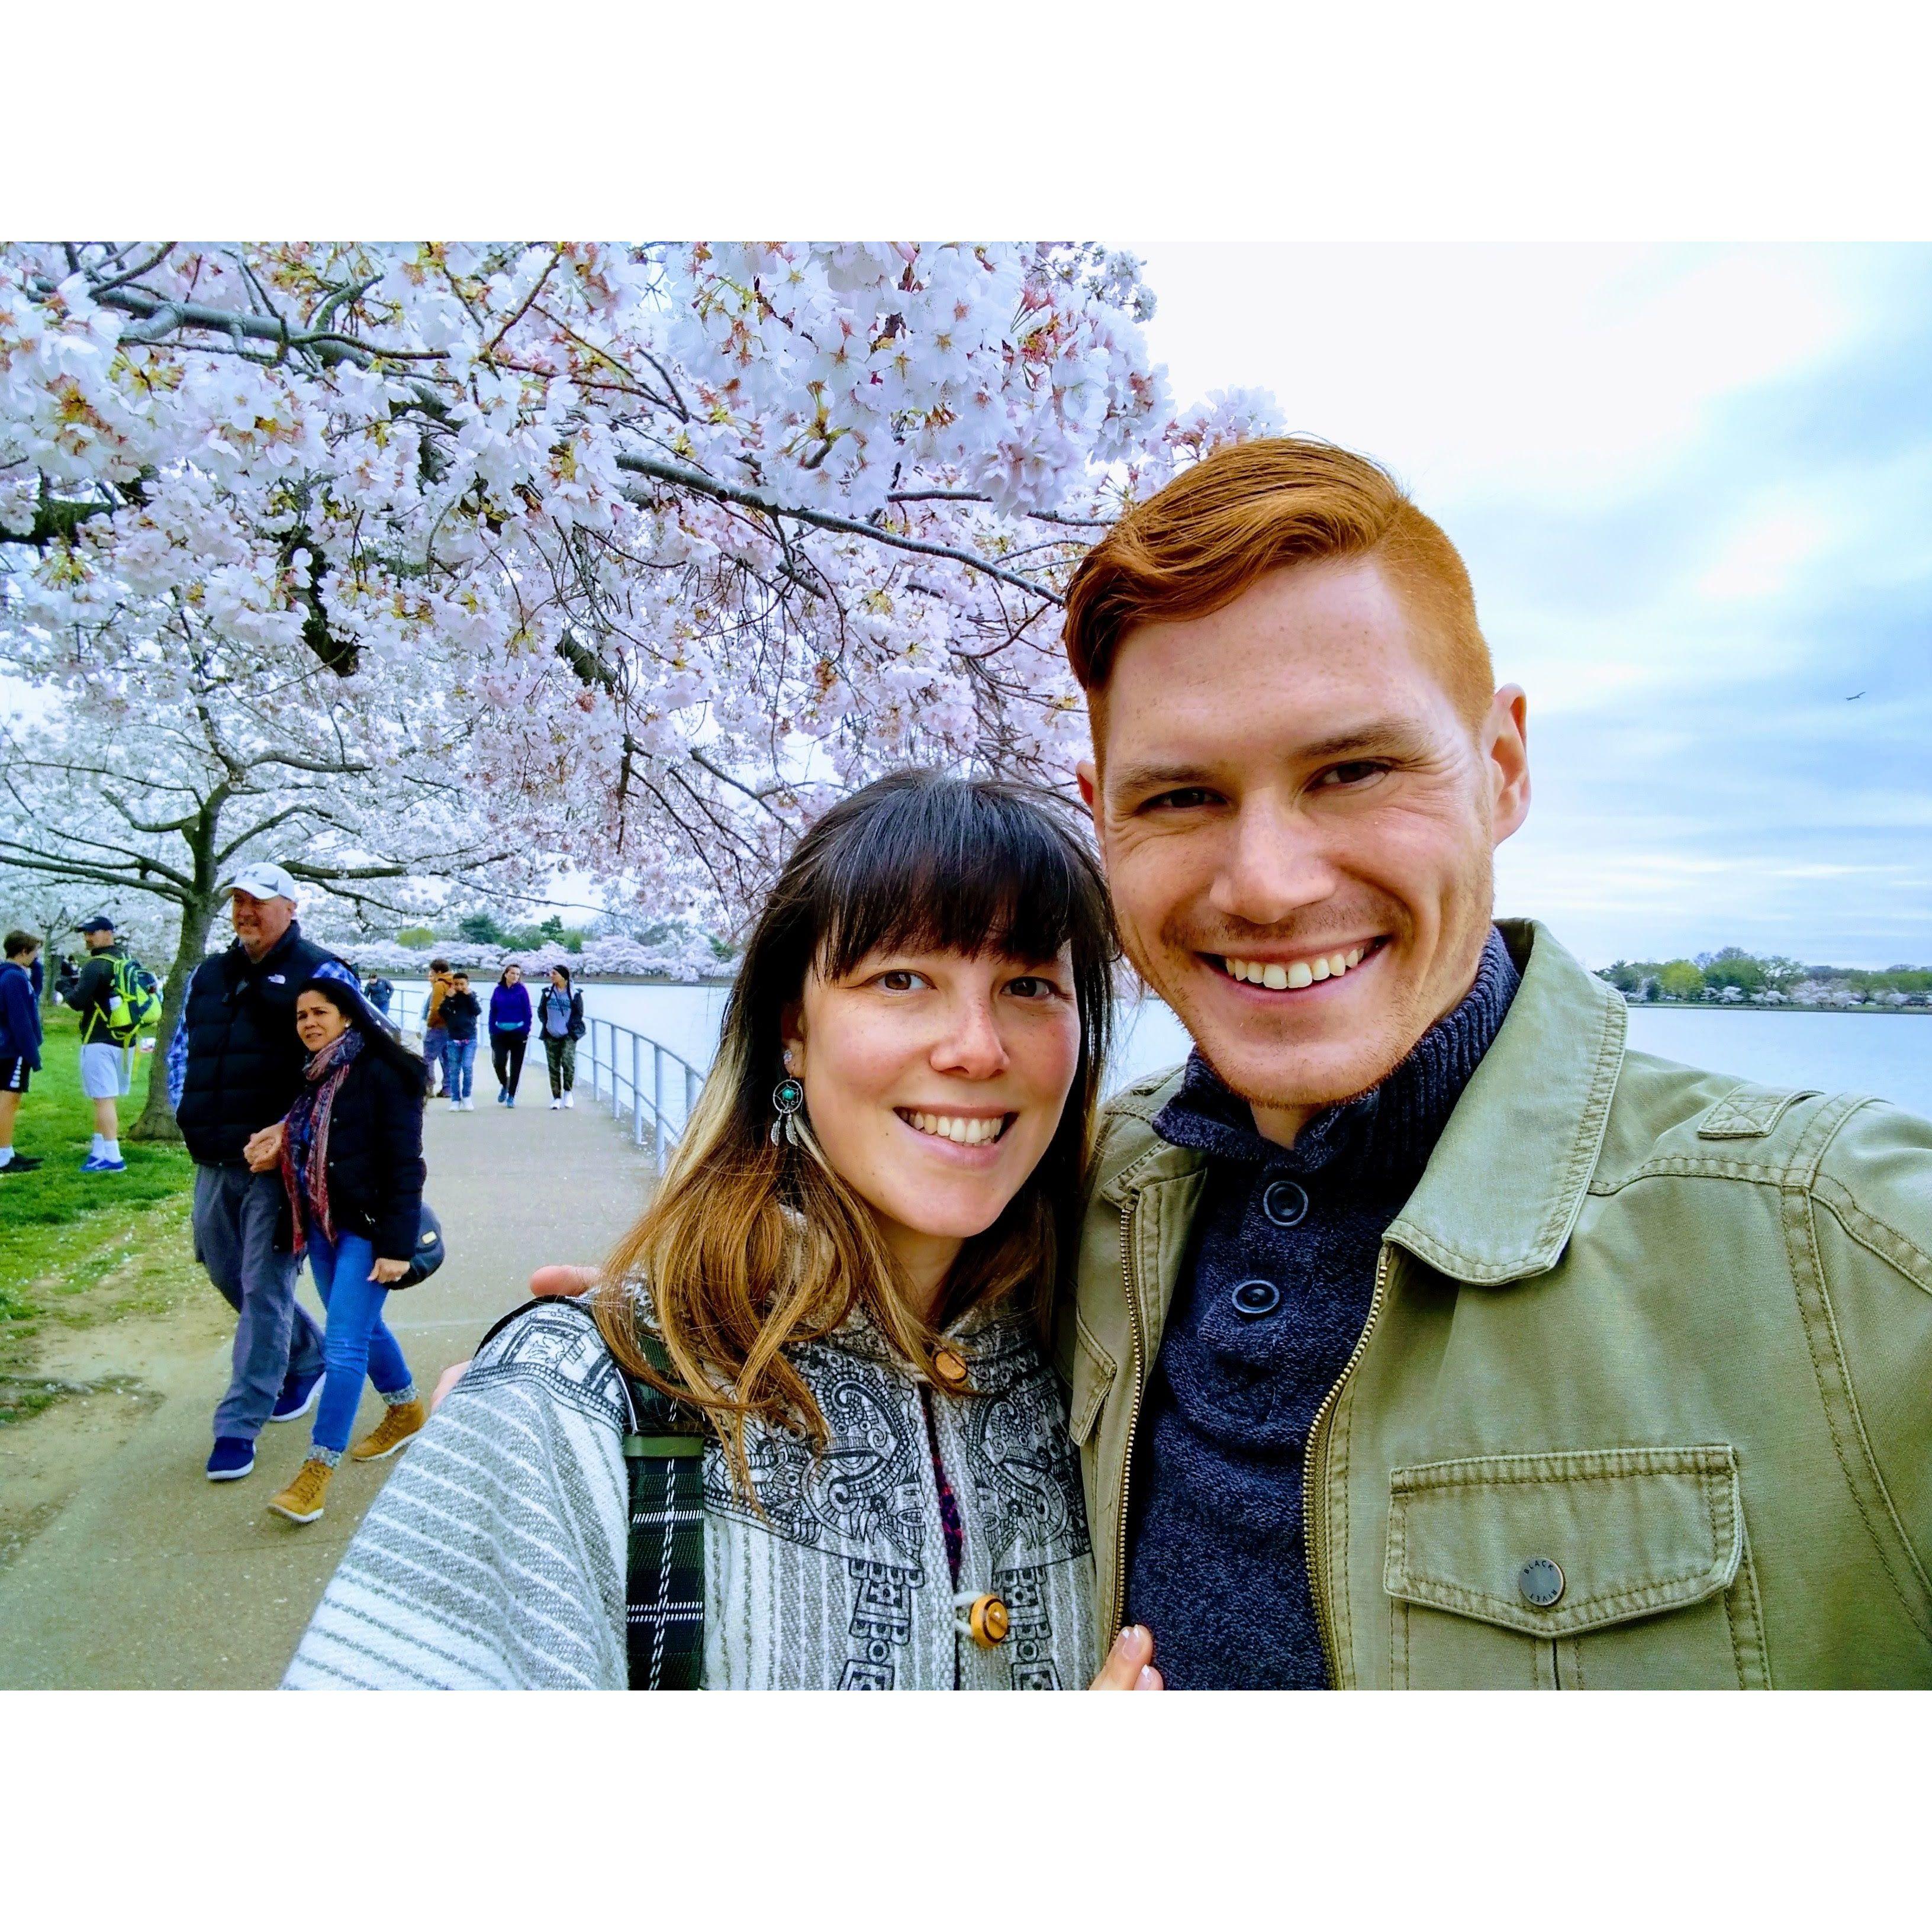
M1463 551L1530 697L1499 912L1932 962L1932 249L1130 245L1177 400L1273 390Z

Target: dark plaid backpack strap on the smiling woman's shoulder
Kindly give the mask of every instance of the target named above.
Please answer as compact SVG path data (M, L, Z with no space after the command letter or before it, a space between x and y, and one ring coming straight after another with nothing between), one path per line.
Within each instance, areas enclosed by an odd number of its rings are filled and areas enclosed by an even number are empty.
M643 1352L661 1376L670 1356L655 1335ZM632 1690L696 1690L705 1662L705 1435L703 1418L661 1389L624 1378L632 1428L630 1578L624 1629Z

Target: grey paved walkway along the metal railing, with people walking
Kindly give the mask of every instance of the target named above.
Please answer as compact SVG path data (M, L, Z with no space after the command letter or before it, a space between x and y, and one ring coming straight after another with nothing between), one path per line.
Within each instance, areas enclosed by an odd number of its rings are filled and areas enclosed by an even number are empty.
M386 1308L425 1395L526 1298L531 1267L597 1262L649 1184L645 1155L587 1094L549 1111L541 1065L535 1080L526 1068L516 1109L495 1092L483 1068L475 1113L431 1101L425 1121L427 1192L450 1252ZM319 1314L307 1275L301 1294ZM269 1689L396 1463L344 1457L328 1513L298 1528L265 1505L301 1463L313 1412L263 1432L253 1476L211 1484L201 1466L226 1345L122 1372L158 1401L0 1573L0 1689ZM365 1387L355 1434L379 1416Z

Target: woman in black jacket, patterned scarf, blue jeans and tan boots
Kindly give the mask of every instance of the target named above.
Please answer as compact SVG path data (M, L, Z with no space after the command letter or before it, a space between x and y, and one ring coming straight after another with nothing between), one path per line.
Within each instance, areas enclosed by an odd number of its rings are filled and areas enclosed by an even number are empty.
M328 1310L309 1455L269 1503L290 1522L315 1522L355 1426L363 1376L386 1408L352 1451L357 1463L394 1455L425 1420L383 1304L410 1271L423 1219L427 1068L338 980L298 989L296 1034L309 1055L301 1092L280 1132L259 1136L249 1165L280 1175L288 1246L307 1254Z

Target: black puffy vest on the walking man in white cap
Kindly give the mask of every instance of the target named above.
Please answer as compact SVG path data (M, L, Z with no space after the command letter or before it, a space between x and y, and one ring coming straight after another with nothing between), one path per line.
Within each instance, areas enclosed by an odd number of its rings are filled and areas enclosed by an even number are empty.
M247 1138L280 1121L301 1092L309 1053L296 1037L296 989L325 960L340 964L290 920L261 960L238 939L195 968L182 1010L187 1078L174 1119L203 1167L238 1163Z

